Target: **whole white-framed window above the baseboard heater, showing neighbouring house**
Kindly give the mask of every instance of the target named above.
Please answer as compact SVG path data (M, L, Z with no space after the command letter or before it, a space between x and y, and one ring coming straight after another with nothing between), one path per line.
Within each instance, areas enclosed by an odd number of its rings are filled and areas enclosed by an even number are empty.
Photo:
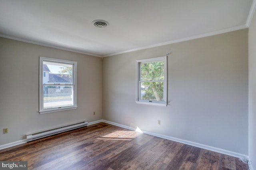
M40 57L40 114L76 109L76 66L75 61Z

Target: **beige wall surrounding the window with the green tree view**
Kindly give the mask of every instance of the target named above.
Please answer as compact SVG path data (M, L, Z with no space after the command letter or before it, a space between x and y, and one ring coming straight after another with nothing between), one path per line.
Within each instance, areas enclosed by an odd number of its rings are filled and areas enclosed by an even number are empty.
M170 105L136 104L135 61L166 53ZM102 78L103 119L248 155L248 29L106 57Z

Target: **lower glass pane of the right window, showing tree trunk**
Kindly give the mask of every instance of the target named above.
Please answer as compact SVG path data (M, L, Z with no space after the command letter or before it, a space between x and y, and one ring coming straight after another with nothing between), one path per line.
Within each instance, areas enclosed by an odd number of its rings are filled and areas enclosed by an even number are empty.
M142 82L140 100L163 101L164 82Z

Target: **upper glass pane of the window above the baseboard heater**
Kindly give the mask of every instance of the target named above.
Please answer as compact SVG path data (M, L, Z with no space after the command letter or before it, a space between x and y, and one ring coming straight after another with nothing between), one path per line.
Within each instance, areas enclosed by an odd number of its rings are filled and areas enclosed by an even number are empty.
M43 62L43 84L73 84L73 64Z

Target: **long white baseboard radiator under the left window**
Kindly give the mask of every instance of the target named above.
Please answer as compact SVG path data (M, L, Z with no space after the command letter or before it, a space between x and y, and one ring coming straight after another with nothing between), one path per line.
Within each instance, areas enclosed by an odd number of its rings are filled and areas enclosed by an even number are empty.
M72 123L72 124L69 124L69 125L63 125L63 126L60 126L60 127L55 127L55 128L40 131L40 132L30 133L30 134L26 135L27 136L27 142L33 141L33 140L36 140L36 139L40 139L40 138L43 138L43 137L47 137L47 136L50 136L50 135L55 135L55 134L58 134L58 133L62 133L62 132L65 132L65 131L70 131L72 129L77 129L79 127L84 127L84 126L87 126L87 125L88 125L88 121L85 120L85 121L80 121L80 122Z

